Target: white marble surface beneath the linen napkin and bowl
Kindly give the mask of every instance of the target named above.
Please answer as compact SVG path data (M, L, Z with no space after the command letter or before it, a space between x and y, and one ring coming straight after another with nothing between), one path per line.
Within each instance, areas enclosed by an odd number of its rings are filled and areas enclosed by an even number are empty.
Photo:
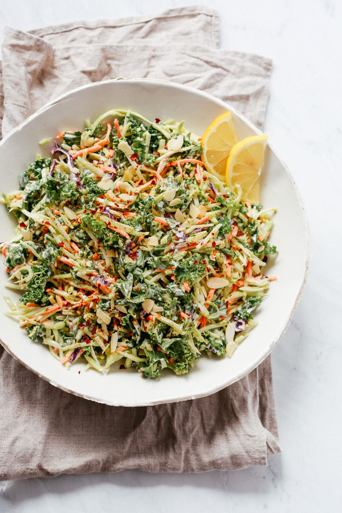
M194 3L74 0L65 8L50 0L1 2L0 38L5 25L28 30ZM4 513L130 513L147 507L163 513L185 508L190 513L340 510L342 3L211 0L210 6L220 11L222 47L267 55L274 61L265 131L292 170L310 221L308 282L293 321L273 352L283 453L271 457L266 468L235 472L149 475L125 471L9 482L0 492Z

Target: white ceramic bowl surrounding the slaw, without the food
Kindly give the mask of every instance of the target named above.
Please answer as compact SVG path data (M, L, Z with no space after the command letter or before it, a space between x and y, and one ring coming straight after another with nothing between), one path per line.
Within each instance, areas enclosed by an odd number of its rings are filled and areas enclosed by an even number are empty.
M4 138L0 143L1 189L10 192L18 188L18 176L36 153L44 153L38 141L65 129L83 127L87 117L95 120L111 108L130 108L151 120L155 117L185 119L185 126L198 134L202 134L217 115L230 110L240 139L261 133L234 108L190 87L144 79L98 82L60 96ZM48 154L47 150L45 153ZM84 372L84 365L78 362L67 370L52 358L45 346L31 342L25 329L3 314L8 311L3 296L10 295L13 301L18 299L15 292L3 286L7 278L3 265L0 267L2 344L14 358L51 384L77 396L116 406L153 405L203 397L246 376L283 336L299 301L308 267L306 213L292 176L272 146L266 150L260 189L260 203L277 208L271 243L276 244L279 254L269 259L266 268L271 266L268 273L277 275L277 280L271 283L269 297L256 310L257 327L234 352L233 358L209 360L204 356L188 375L163 372L159 380L144 380L135 370L123 371L118 367L108 374ZM0 222L1 240L10 239L15 221L9 218L3 206Z

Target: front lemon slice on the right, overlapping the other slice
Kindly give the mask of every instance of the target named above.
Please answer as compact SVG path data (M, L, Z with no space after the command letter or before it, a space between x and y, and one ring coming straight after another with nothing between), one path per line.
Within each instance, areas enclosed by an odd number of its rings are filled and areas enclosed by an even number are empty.
M242 188L242 200L253 205L259 203L259 176L264 164L268 135L246 137L232 148L226 169L226 184L238 194Z

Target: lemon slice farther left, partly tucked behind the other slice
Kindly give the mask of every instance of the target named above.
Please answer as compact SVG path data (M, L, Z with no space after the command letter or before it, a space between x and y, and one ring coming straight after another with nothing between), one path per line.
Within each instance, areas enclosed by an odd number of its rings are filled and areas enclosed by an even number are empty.
M202 137L202 160L209 172L225 180L227 159L237 141L230 111L224 112L209 125Z

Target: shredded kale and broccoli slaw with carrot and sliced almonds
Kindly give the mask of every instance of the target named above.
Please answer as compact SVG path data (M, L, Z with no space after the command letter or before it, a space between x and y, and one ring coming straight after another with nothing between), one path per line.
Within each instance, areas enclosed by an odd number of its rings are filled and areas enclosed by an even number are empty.
M202 353L231 357L274 279L275 210L211 174L184 122L112 110L58 134L51 153L3 194L18 222L0 245L5 286L24 291L6 297L8 315L66 367L158 378Z

